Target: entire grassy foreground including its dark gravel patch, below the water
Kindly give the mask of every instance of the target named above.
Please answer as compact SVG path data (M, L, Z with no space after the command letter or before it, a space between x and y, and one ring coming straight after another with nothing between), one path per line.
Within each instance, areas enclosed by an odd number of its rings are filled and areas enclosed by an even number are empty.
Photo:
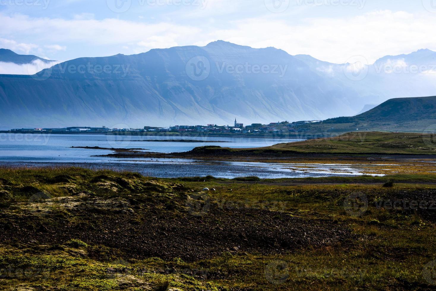
M2 290L436 288L436 210L376 207L436 200L431 175L293 186L78 168L0 178Z

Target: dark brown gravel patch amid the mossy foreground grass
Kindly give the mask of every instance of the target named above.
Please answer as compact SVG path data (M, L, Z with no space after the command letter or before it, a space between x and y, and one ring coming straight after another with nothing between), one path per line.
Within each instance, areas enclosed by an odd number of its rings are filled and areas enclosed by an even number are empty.
M350 238L348 230L332 222L306 221L269 210L225 210L215 204L208 207L203 217L157 208L145 212L99 212L93 209L71 213L74 223L56 213L43 218L36 215L18 218L3 213L0 243L56 245L80 239L117 250L125 258L180 257L197 261L226 251L281 253L299 247L336 244ZM98 252L93 256L104 259Z

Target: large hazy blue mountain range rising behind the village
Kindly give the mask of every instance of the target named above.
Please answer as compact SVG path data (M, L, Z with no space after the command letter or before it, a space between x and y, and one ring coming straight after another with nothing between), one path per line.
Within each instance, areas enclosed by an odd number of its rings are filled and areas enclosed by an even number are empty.
M78 58L35 75L0 75L0 127L232 124L235 118L269 123L350 116L366 104L434 95L435 57L433 51L420 50L384 57L356 71L353 64L292 56L274 47L215 41L204 47ZM415 64L421 71L407 73Z

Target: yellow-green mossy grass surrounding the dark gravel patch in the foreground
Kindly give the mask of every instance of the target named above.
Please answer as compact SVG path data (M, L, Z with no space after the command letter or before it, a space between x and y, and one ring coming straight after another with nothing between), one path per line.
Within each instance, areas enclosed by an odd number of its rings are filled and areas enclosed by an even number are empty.
M299 179L297 184L286 185L288 180L154 179L135 173L79 168L3 168L0 178L0 223L12 233L11 237L1 237L2 290L436 288L432 273L436 264L432 264L436 259L436 210L378 209L375 204L385 200L436 200L433 176L392 176L392 187L383 187L387 178L372 180L371 184L356 184L353 178L343 183L319 179L319 184L313 184L313 179L307 179L308 183ZM95 217L109 218L116 229L117 221L129 215L133 232L143 223L140 213L159 217L161 211L174 221L189 218L186 193L199 193L204 187L215 189L201 195L222 211L263 209L277 219L284 213L305 222L308 236L312 235L310 227L317 223L344 228L350 235L341 242L308 244L271 253L223 248L220 254L195 260L138 257L116 249L114 244L93 243L92 236L110 227L99 225ZM36 193L48 196L35 197ZM344 206L354 195L368 199L366 211L365 207ZM202 217L191 220L203 220L204 227L211 227L206 221L215 213L218 212L203 209ZM280 232L280 220L277 221L276 231ZM94 230L86 239L65 235L61 243L51 243L51 237L54 240L61 235L51 230L61 223L91 225ZM37 237L20 237L24 227L35 227ZM220 220L216 220L215 227L220 227ZM304 233L304 224L301 228ZM171 231L175 230L167 230Z

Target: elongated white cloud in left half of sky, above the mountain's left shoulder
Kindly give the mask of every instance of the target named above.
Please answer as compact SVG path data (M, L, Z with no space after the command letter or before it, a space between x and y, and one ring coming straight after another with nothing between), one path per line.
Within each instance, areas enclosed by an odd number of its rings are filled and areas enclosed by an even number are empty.
M22 38L34 37L37 31L37 37L41 42L72 42L88 47L126 43L141 43L141 46L147 49L155 48L155 45L169 47L180 42L188 44L189 39L194 35L198 37L201 32L199 28L179 24L143 24L112 18L64 20L0 14L0 22L3 23L3 30L8 31L9 34L20 35ZM191 37L184 41L189 35Z

